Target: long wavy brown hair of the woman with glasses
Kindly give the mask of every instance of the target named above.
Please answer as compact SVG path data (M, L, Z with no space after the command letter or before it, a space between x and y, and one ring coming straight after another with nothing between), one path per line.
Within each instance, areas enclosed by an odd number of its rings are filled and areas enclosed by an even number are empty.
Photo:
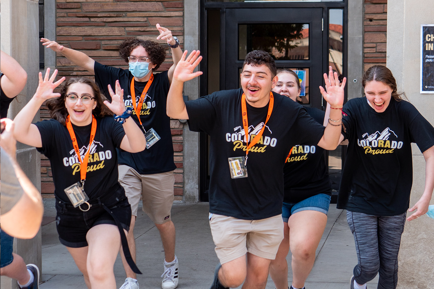
M104 104L105 97L103 96L103 94L101 93L101 91L99 90L98 86L95 84L94 81L85 77L74 77L74 78L69 78L62 86L62 88L60 88L59 97L47 101L46 105L50 110L50 115L52 118L59 121L59 123L66 125L66 117L68 116L68 110L66 110L65 107L66 92L68 91L68 88L69 86L71 86L71 84L77 82L87 84L92 88L93 97L95 97L95 101L96 101L96 107L92 110L92 114L95 115L95 117L105 117L105 116L113 115L113 112L109 110L108 107L105 106Z

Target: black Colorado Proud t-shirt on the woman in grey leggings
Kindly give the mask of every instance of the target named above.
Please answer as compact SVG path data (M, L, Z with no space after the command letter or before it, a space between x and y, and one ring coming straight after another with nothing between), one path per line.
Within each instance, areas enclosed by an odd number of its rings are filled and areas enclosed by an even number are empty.
M337 208L376 216L407 211L413 181L411 143L434 146L434 128L408 101L391 101L382 113L366 97L343 108L349 140Z

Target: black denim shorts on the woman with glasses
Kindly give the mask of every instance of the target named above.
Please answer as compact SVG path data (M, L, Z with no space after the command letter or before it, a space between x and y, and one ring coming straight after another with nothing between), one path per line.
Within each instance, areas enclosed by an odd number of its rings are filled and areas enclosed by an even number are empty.
M104 204L112 211L122 227L129 231L131 222L131 206L125 191L117 190L110 196L105 196L88 201L92 205L89 211L83 212L79 207L74 208L71 203L66 203L56 197L56 228L60 243L67 247L80 248L88 246L86 234L90 228L99 224L116 225L113 217L103 208ZM82 204L87 209L87 204Z

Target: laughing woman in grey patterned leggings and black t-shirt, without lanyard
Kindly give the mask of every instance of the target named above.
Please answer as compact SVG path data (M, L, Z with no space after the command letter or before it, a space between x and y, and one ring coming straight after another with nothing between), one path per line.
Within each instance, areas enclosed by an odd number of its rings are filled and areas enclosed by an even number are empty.
M425 189L409 210L408 221L428 210L434 188L434 128L397 93L385 66L369 68L362 80L365 97L343 107L342 139L349 140L337 207L347 210L358 264L351 287L365 289L379 273L378 289L395 289L398 251L413 180L411 143L426 162Z

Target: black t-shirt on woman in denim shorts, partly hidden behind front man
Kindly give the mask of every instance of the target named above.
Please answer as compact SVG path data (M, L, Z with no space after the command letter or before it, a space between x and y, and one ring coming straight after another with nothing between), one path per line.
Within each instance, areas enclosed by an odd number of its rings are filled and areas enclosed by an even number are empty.
M306 107L306 110L314 120L323 123L324 111L314 107ZM324 149L317 143L293 147L291 157L283 167L284 202L297 203L318 194L332 195L330 178L325 167Z

